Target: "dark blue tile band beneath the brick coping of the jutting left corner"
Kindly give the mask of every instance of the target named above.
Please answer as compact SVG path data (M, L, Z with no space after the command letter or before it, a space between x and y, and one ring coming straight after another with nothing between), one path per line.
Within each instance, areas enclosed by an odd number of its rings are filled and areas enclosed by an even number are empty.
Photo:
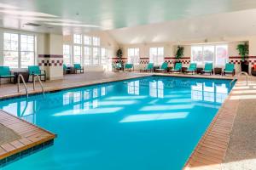
M54 144L54 139L51 139L47 142L44 142L43 144L38 144L36 146L33 146L32 148L20 151L12 156L3 158L0 160L0 167L5 167L5 166L9 165L9 163L18 161L26 156L30 156L40 150L44 150L44 149L48 148L49 146L52 146L53 144Z

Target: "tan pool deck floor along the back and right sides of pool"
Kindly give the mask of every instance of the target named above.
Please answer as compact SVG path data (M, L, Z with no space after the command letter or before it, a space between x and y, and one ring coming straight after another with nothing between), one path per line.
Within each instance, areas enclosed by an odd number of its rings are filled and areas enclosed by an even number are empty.
M66 75L65 78L60 81L45 82L44 86L46 91L55 91L64 88L79 87L100 82L113 82L150 75L152 74L137 72L86 72L81 75ZM157 75L232 79L232 77L221 76ZM29 91L32 92L32 83L28 84L28 87ZM37 89L38 90L32 92L32 94L40 92L40 88L37 87ZM19 95L20 94L17 93L17 87L14 84L2 85L0 88L0 99ZM250 169L244 167L256 167L256 162L253 161L253 158L256 158L256 147L253 147L255 145L253 141L256 139L255 105L256 77L249 78L249 86L246 86L244 78L239 78L229 98L225 100L224 105L218 111L217 116L207 129L207 133L196 146L184 169L234 169L232 168L234 166L241 167L241 169ZM250 118L247 117L247 119L245 119L243 115L249 116ZM12 117L11 119L15 120L15 117ZM255 119L253 119L253 117ZM1 120L2 118L0 118L0 121ZM248 124L250 126L247 126L247 122L249 122ZM19 126L19 124L15 125L15 127ZM245 144L251 144L251 147ZM247 153L249 153L249 156L247 156ZM249 161L247 161L248 157L250 158Z

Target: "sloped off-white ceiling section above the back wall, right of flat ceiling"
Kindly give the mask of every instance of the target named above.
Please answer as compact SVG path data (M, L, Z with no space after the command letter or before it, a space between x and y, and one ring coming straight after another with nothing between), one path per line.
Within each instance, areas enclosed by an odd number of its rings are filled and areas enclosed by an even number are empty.
M234 37L256 36L256 9L172 20L108 33L120 44L147 42L228 42Z

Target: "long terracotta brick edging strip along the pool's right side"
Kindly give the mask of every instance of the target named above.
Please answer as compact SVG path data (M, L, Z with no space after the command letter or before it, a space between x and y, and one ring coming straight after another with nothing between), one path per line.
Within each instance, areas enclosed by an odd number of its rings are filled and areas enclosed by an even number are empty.
M184 170L221 169L239 105L239 101L230 99L232 92L234 92L234 89L230 92L228 99L224 101L224 105L219 109L199 144L197 144L183 167Z

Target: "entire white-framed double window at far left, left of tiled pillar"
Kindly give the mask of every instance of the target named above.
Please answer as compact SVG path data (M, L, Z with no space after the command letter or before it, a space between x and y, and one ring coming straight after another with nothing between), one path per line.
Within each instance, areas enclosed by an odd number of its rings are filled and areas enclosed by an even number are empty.
M3 65L26 68L35 64L35 36L16 33L3 34Z

